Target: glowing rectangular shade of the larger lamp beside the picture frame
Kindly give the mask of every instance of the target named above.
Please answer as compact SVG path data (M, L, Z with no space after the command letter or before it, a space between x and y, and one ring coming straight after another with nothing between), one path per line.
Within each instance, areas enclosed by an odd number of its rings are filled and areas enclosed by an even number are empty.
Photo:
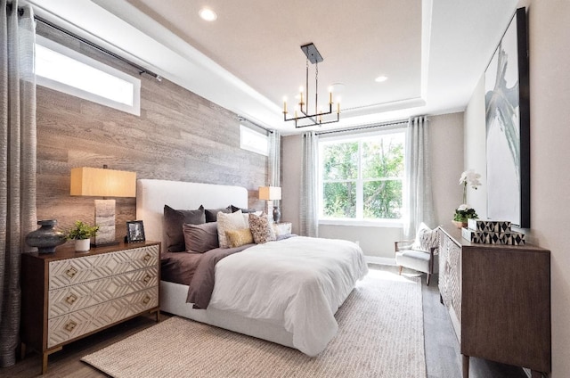
M136 172L106 168L72 168L71 195L135 197Z

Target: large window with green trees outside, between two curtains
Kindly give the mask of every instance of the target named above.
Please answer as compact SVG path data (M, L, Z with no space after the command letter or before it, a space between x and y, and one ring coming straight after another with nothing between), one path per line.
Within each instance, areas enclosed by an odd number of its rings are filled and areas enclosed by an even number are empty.
M319 218L403 218L404 146L404 130L322 139Z

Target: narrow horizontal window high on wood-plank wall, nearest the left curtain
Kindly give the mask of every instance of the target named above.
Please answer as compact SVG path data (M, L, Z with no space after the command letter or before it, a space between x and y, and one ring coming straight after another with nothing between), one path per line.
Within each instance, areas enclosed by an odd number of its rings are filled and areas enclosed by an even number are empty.
M140 115L141 80L37 36L37 84Z

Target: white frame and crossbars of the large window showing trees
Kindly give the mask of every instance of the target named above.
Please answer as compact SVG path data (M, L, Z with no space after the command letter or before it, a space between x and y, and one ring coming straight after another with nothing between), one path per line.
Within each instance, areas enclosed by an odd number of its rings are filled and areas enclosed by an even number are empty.
M365 138L369 138L369 137L374 137L374 136L381 136L381 135L387 135L387 134L395 134L395 133L401 133L403 134L403 139L404 139L404 155L405 155L405 151L406 151L406 146L405 143L407 142L407 127L404 126L398 126L398 127L383 127L381 130L375 130L375 131L371 131L371 132L359 132L356 134L351 134L351 135L346 135L346 134L342 134L342 135L338 135L338 136L326 136L326 137L321 137L319 139L318 142L318 149L319 149L319 167L318 167L318 193L317 193L317 199L318 199L318 223L319 225L326 225L326 226L376 226L376 227L402 227L403 226L403 222L404 219L406 218L405 215L405 209L406 209L406 205L405 205L405 196L403 194L403 214L401 218L398 219L389 219L389 218L376 218L376 219L370 219L370 218L362 218L362 211L363 209L359 209L357 207L356 209L356 216L357 218L325 218L323 217L323 199L322 199L322 195L323 195L323 172L322 172L322 160L321 160L321 153L322 153L322 144L329 144L329 143L350 143L350 142L354 142L354 141L361 141L362 139ZM359 146L360 149L360 146ZM362 159L362 153L358 154L358 178L356 178L355 180L338 180L339 182L344 182L344 181L356 181L357 185L359 185L358 183L361 182L366 182L366 181L374 181L374 179L363 179L361 178L361 174L362 174L362 166L361 166L361 161ZM404 160L405 160L405 156L404 156ZM403 186L403 190L405 191L405 187L406 187L406 182L405 182L405 167L404 167L404 173L403 173L403 177L402 177L402 186ZM386 177L382 177L382 178L386 178ZM332 182L334 180L331 180L330 182ZM361 188L362 189L362 188ZM356 192L356 196L358 197L359 195L362 196L363 191L360 190L360 193L357 189ZM362 198L361 198L362 200ZM357 198L357 203L358 203L358 198ZM360 218L358 218L358 216L360 215Z

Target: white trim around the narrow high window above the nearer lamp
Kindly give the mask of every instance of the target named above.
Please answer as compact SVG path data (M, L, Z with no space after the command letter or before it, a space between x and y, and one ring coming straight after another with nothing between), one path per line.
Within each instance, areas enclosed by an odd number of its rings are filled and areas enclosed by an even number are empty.
M52 50L55 53L61 53L73 59L77 62L84 63L95 70L101 70L111 76L116 78L120 78L129 82L133 85L133 104L129 105L126 103L119 103L117 101L111 100L109 98L103 97L98 94L93 94L91 92L85 91L83 89L77 88L76 86L69 86L68 84L61 83L59 81L53 80L51 78L45 78L40 75L36 75L36 83L39 86L45 86L47 88L51 88L53 90L73 95L79 98L82 98L87 101L91 101L93 103L99 103L104 106L108 106L110 108L117 109L119 111L126 111L127 113L134 114L135 116L141 115L141 79L134 78L131 75L126 74L121 70L114 69L107 64L102 62L96 61L93 58L90 58L83 53L77 53L77 51L70 49L64 45L60 45L57 42L54 42L51 39L46 37L37 36L36 37L36 44L41 45L49 50Z

